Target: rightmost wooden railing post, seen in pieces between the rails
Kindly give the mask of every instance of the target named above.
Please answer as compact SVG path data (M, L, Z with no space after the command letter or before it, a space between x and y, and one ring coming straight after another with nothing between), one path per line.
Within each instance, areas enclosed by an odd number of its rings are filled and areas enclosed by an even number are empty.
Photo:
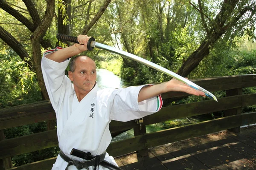
M241 95L243 93L243 89L242 88L236 88L236 89L231 89L231 90L227 90L226 91L226 96L235 96L235 95ZM242 101L241 101L241 107L240 108L233 108L233 109L229 109L227 111L225 111L225 117L226 116L232 116L232 115L236 115L236 114L241 114L242 112ZM241 119L239 120L241 121ZM228 129L231 132L234 133L239 133L240 132L240 127L234 127L232 129Z

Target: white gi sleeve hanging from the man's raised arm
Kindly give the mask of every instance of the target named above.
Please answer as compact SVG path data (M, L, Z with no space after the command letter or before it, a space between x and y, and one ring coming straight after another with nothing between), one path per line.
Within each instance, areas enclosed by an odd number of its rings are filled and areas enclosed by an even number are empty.
M53 50L45 51L41 61L44 83L47 88L52 107L55 111L58 110L58 105L64 98L65 89L67 88L68 84L67 82L70 81L70 79L65 76L65 69L67 68L70 60L66 60L64 62L55 62L46 58L45 56L60 49L62 48L57 47Z

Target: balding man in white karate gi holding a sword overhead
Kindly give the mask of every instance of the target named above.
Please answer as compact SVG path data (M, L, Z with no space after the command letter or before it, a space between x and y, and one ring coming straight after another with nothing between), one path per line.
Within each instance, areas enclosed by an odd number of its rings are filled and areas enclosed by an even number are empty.
M102 157L116 164L112 156L105 153L111 142L109 123L111 120L129 121L139 119L160 110L160 94L168 91L182 91L205 96L182 82L172 79L158 85L142 85L119 89L99 89L96 82L95 62L86 56L68 60L87 50L90 37L79 35L79 44L67 48L48 50L42 58L44 82L57 118L59 154L52 170L76 170L77 161L85 161L70 155L73 148L90 152L98 160L88 163L86 169L96 169ZM70 62L69 78L64 71ZM73 82L73 83L72 83ZM101 160L99 160L101 159ZM98 166L99 170L108 170Z

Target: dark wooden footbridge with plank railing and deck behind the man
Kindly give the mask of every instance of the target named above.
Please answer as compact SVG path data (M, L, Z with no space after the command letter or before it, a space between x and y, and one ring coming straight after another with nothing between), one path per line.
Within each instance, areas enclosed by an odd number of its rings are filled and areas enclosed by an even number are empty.
M239 133L240 126L256 123L256 112L242 113L243 107L256 105L256 94L243 94L243 88L256 87L256 74L195 79L193 82L211 92L226 91L226 95L217 96L218 102L204 100L164 107L146 116L141 125L134 121L112 121L111 134L134 129L134 137L112 142L107 149L116 157L119 166L124 170L256 169L255 128ZM184 96L186 94L174 92L162 95L164 103ZM223 111L225 117L154 133L145 130L146 125L217 111ZM12 167L10 157L58 146L56 130L5 140L3 130L53 119L56 119L55 112L49 101L1 109L0 170L50 170L56 158ZM220 132L227 129L229 131ZM220 133L211 134L215 132ZM203 135L207 136L195 138ZM128 153L128 156L118 157Z

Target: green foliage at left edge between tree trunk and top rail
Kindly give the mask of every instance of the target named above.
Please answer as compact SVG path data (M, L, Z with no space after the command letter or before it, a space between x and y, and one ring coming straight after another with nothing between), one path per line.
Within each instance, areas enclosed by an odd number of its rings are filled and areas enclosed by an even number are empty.
M0 53L0 108L41 100L35 73L11 49Z

